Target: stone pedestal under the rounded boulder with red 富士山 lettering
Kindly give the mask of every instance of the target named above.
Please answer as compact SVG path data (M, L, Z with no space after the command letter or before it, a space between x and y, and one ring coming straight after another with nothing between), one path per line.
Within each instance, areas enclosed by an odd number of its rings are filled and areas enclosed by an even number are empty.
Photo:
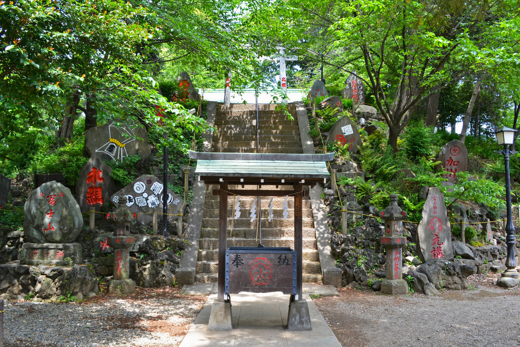
M25 265L72 265L83 262L81 243L25 242L18 255Z

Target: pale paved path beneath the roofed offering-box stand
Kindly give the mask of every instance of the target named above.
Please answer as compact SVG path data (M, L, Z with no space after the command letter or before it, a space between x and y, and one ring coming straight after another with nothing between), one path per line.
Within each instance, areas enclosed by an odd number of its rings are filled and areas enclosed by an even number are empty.
M303 299L309 306L311 330L287 329L290 295L281 292L231 294L231 331L208 331L211 306L217 298L216 285L195 284L181 290L186 294L208 294L202 310L194 320L181 347L199 346L341 346L309 295L337 295L332 286L304 284Z

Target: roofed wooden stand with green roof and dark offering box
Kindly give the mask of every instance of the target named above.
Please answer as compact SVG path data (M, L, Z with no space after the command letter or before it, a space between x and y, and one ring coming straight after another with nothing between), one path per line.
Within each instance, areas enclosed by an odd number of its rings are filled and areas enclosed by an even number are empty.
M219 185L219 189L213 191L213 194L219 196L218 294L212 306L208 329L228 330L232 328L229 294L240 291L283 291L291 294L288 328L292 330L311 329L307 301L302 299L302 199L304 185L314 186L318 182L325 182L330 177L326 162L334 158L334 153L310 155L190 151L190 158L197 160L195 170L197 179L204 181L206 185ZM292 189L229 188L231 185L238 187L274 185L277 188L288 186ZM286 247L232 247L227 249L228 195L293 196L294 250ZM279 261L281 266L275 267L272 264L276 262L278 265ZM239 266L236 266L237 264ZM242 265L248 265L248 267L239 270ZM236 269L232 269L232 267L236 267ZM288 276L289 273L292 273L292 276ZM288 278L289 282L287 282Z

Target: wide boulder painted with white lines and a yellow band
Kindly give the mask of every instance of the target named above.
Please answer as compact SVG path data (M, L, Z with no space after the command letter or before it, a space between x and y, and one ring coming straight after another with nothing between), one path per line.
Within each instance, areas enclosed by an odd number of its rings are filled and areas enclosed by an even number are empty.
M146 131L137 125L105 124L85 132L85 150L89 156L100 156L103 160L125 161L129 156L148 158L150 145Z

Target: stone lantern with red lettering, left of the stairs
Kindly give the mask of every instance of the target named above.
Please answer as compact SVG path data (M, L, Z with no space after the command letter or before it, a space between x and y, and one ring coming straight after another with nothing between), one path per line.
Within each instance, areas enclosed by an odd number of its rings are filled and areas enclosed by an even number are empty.
M135 291L135 282L129 278L129 248L135 243L130 234L130 222L134 214L127 208L118 208L107 218L116 223L114 235L108 244L114 250L114 277L109 281L110 294L126 294Z

